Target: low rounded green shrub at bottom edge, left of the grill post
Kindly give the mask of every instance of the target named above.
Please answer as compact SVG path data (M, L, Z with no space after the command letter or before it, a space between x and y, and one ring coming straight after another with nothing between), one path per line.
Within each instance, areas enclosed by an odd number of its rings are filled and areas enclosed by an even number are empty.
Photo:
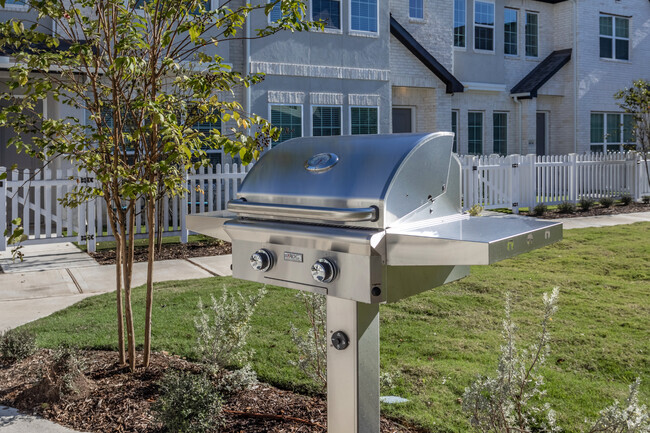
M160 397L151 409L165 431L208 433L219 430L221 395L206 374L166 373L158 386Z

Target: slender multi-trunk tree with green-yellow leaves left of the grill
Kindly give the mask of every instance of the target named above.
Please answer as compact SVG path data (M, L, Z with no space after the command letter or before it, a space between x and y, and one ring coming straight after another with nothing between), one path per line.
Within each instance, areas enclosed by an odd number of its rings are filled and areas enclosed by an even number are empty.
M5 1L0 0L0 6ZM126 325L132 370L134 226L136 203L145 199L149 261L144 365L148 366L156 198L161 189L183 194L185 172L207 162L206 148L224 149L248 163L274 134L266 120L245 112L234 97L236 88L262 77L233 71L219 55L208 54L210 47L317 24L303 20L302 0L259 4L227 0L215 10L204 0L25 0L25 4L53 24L46 28L45 20L15 19L0 23L0 49L16 60L9 70L9 90L0 93L0 98L12 102L1 109L0 126L19 133L10 140L18 151L44 160L63 157L80 171L94 174L96 185L78 186L63 203L76 206L98 197L106 203L117 244L119 358L124 364ZM268 15L276 5L282 12L277 21L253 34L240 34L247 17ZM48 97L85 110L90 120L44 118L35 107ZM202 133L195 127L218 120L233 127L224 133Z

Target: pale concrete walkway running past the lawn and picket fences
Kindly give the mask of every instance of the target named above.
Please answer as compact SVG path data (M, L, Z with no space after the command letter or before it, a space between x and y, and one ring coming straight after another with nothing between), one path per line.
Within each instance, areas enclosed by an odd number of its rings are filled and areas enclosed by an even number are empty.
M486 212L485 214L489 214ZM501 214L499 214L501 215ZM650 222L650 212L595 217L564 218L565 229L604 227ZM30 246L23 263L0 253L0 330L14 328L80 300L115 290L114 266L100 266L72 244ZM231 275L232 257L213 256L155 263L156 282ZM134 286L146 282L146 263L136 263ZM52 422L0 406L0 433L74 433Z

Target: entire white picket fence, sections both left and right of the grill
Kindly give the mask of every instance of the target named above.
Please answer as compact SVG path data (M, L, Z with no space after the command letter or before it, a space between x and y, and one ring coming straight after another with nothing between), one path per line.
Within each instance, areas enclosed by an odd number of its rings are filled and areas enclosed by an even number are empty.
M582 197L599 199L631 195L640 200L650 195L641 156L637 153L584 155L461 156L463 208L522 207L538 203L577 202ZM223 210L237 194L251 166L217 165L187 174L189 193L162 200L163 233L187 241L188 214ZM5 171L0 167L0 172ZM282 173L278 173L281 176ZM76 170L38 173L12 171L0 180L0 251L7 248L2 234L20 217L27 240L23 244L79 242L94 251L96 242L113 240L103 199L70 209L59 199L75 185L92 184L92 176ZM135 237L147 236L145 201L136 204Z

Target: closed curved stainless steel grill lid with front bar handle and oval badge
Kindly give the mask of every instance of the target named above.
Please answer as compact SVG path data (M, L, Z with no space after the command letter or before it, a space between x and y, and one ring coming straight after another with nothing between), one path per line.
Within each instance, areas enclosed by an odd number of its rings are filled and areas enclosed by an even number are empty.
M446 189L453 134L303 137L266 152L228 209L383 229Z

